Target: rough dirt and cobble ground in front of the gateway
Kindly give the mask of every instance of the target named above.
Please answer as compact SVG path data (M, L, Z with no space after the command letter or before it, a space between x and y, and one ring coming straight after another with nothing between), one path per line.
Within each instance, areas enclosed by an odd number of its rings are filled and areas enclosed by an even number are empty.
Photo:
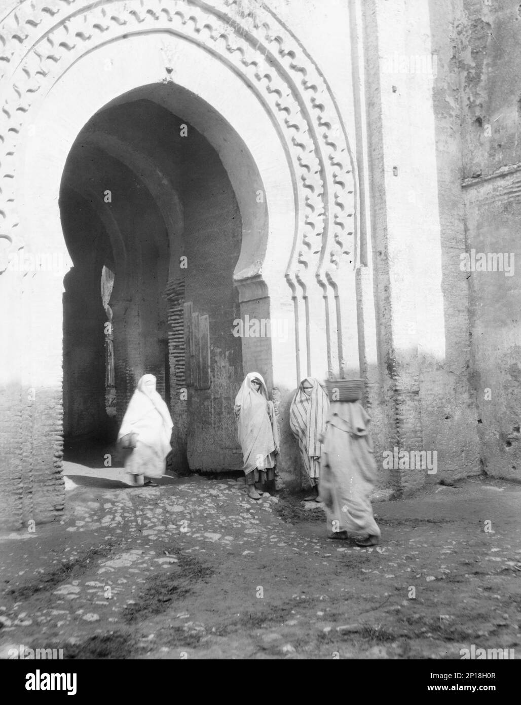
M62 522L0 537L0 658L521 656L520 485L375 503L382 543L358 548L327 539L320 506L253 501L242 479L65 473Z

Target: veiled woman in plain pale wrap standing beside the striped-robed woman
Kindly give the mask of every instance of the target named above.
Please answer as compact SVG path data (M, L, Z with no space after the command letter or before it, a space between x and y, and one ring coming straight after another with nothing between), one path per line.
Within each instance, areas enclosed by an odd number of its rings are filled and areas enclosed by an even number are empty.
M275 409L258 372L246 375L235 398L234 412L248 494L252 499L260 499L255 483L274 484L276 456L280 450Z

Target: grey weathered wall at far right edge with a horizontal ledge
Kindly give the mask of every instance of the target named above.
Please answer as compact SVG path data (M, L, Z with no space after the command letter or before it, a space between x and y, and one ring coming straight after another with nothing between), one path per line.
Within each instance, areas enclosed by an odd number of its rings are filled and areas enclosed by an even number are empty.
M521 479L521 10L513 0L465 0L462 20L456 36L466 210L462 251L470 257L474 252L478 268L464 273L477 427L484 470ZM486 271L479 271L481 257L487 258Z

